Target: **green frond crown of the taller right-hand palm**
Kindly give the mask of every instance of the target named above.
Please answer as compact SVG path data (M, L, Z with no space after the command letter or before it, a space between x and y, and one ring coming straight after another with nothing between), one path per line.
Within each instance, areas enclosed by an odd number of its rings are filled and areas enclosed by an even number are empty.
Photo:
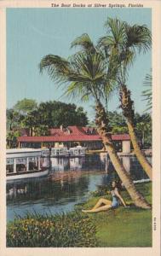
M105 23L106 36L100 38L99 45L106 52L110 73L113 73L118 85L126 84L129 67L135 61L136 54L145 53L151 48L152 33L146 25L129 23L108 18Z

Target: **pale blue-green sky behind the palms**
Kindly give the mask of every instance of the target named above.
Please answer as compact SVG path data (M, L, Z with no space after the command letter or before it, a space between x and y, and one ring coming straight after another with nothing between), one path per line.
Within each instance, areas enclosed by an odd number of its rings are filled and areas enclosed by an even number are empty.
M69 102L62 88L49 79L47 73L40 74L38 64L44 55L62 57L72 55L72 41L83 33L96 43L106 35L104 24L108 17L129 22L130 25L147 25L151 29L151 9L7 9L7 108L17 101L30 98L39 102ZM146 102L142 101L143 81L152 68L152 52L137 55L129 70L127 85L132 92L135 111L143 113ZM95 116L94 102L82 103L89 119ZM118 109L118 95L112 96L108 109Z

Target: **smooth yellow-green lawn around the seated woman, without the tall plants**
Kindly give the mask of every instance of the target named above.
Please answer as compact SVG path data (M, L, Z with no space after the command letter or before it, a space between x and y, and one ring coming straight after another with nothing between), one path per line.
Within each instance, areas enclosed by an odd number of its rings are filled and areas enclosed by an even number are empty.
M136 188L152 203L152 183L136 184ZM122 195L127 204L132 203L126 191ZM93 207L98 199L92 197L81 208ZM96 225L98 247L152 247L152 210L118 207L88 215Z

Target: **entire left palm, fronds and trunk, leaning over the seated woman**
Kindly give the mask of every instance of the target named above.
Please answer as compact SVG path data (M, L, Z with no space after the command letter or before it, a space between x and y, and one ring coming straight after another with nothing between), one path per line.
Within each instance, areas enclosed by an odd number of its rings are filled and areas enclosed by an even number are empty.
M65 84L67 96L78 97L82 101L89 101L92 98L95 101L95 122L98 133L102 137L118 176L135 202L135 206L150 208L143 196L136 191L129 173L118 159L111 135L107 131L108 119L102 102L106 102L106 97L113 90L114 81L112 73L110 78L107 76L106 56L92 44L87 34L83 34L72 43L72 47L77 45L82 46L82 49L68 60L57 55L44 56L40 62L40 72L45 69L51 79Z

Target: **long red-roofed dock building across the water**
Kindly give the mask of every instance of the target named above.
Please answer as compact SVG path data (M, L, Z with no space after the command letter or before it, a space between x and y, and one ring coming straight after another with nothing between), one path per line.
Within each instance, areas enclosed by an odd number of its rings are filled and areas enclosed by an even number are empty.
M129 134L113 134L112 141L115 143L118 151L130 152ZM101 149L103 143L95 128L68 126L63 128L52 128L49 130L49 136L21 136L18 137L21 148L41 148L41 147L57 147L64 145L72 148L81 145L88 149Z

